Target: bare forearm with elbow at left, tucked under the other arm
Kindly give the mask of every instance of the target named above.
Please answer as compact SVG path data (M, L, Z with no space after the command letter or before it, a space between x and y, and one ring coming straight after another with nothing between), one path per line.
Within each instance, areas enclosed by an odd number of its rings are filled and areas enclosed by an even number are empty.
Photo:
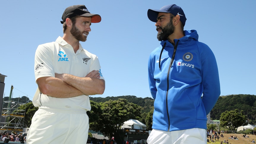
M37 79L37 84L43 94L52 97L69 98L83 95L81 91L56 77L41 77Z

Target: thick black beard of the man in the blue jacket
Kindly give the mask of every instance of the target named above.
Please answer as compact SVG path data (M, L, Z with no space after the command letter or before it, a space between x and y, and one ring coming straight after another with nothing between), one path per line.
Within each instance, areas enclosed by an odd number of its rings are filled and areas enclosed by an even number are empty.
M167 23L167 25L166 25L164 28L158 26L158 27L157 27L157 30L158 30L158 29L161 29L162 31L158 32L158 34L157 34L157 39L158 39L159 41L166 40L167 37L169 37L169 35L173 34L174 29L175 29L174 26L173 26L173 21L172 21L172 19L170 20L169 23Z

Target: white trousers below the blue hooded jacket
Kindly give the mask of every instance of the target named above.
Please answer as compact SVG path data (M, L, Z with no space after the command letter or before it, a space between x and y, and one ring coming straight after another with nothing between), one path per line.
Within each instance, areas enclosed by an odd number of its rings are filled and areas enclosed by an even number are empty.
M185 129L179 131L161 131L153 129L148 136L148 144L206 144L206 129Z

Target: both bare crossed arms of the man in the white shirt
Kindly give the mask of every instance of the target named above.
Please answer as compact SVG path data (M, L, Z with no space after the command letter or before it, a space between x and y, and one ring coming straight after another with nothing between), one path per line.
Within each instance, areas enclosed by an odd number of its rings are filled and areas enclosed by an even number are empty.
M38 78L37 85L43 94L57 98L69 98L80 95L103 94L105 80L99 78L98 70L89 72L86 77L55 74L55 77Z

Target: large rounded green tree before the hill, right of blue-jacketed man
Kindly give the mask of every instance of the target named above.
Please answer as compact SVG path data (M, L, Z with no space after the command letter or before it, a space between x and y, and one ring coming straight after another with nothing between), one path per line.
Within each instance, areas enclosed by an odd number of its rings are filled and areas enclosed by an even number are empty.
M246 116L242 114L242 110L238 109L225 111L220 115L220 126L230 131L236 131L239 126L246 124Z

